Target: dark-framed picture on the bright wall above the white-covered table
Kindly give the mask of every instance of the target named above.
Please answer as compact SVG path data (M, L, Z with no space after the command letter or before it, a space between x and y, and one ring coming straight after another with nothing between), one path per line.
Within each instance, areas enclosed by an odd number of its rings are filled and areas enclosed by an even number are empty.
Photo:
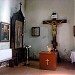
M1 42L10 41L10 24L5 22L0 23L0 41Z

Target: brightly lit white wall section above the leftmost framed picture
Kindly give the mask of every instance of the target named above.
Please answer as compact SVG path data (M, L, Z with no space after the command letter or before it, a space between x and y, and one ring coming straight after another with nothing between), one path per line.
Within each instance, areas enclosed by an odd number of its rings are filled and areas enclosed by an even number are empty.
M10 23L10 0L0 0L0 21Z

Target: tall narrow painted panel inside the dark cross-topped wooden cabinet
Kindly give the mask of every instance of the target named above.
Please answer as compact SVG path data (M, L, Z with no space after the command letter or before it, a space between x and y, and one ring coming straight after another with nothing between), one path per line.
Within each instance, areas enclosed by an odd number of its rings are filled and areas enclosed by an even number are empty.
M15 22L15 48L22 47L22 22L16 20Z

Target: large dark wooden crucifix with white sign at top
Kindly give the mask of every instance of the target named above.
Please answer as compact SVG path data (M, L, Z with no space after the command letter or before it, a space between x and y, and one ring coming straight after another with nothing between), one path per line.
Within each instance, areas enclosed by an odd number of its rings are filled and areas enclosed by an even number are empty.
M53 37L53 40L52 40L52 45L53 45L53 51L56 51L57 50L57 41L56 41L56 35L57 35L57 26L61 23L66 23L67 20L66 19L62 19L62 20L58 20L57 19L57 14L55 12L52 13L51 15L51 18L52 20L46 20L46 21L43 21L43 24L50 24L52 25L52 37Z

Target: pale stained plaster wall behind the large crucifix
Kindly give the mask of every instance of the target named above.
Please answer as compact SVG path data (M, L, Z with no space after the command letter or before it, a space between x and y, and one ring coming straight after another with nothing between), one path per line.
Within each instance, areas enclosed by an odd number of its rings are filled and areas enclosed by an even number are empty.
M74 0L26 0L26 29L25 44L32 45L30 54L39 57L39 52L47 50L51 46L51 26L42 24L43 20L49 20L52 12L57 12L59 19L67 19L67 23L60 24L57 29L58 50L62 57L69 58L70 51L74 48ZM31 36L31 27L39 26L40 36ZM65 52L66 49L66 52ZM65 55L65 56L64 56Z

